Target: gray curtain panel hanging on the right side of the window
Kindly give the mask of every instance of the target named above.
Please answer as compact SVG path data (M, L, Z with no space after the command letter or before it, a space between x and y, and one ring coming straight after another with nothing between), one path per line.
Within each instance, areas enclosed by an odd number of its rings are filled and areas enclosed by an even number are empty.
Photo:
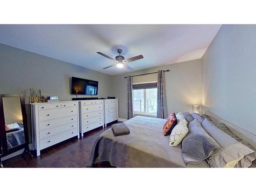
M164 119L165 114L165 101L164 101L164 78L163 70L158 71L157 77L157 118Z

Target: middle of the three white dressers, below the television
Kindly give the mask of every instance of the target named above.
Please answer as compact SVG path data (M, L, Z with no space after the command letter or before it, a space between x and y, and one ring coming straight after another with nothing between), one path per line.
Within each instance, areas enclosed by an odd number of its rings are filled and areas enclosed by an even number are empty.
M79 101L79 126L81 135L100 126L104 128L102 99Z

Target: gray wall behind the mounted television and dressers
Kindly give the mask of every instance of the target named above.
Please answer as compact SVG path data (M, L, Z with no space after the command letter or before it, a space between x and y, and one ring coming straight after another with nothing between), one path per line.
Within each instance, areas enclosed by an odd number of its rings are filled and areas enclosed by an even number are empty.
M42 95L70 100L75 97L70 95L69 78L72 76L99 81L97 97L112 94L110 75L0 44L0 94L24 94L26 91L29 95L30 88L37 88ZM29 102L28 98L26 101ZM28 104L26 108L30 125ZM31 127L29 130L31 132Z

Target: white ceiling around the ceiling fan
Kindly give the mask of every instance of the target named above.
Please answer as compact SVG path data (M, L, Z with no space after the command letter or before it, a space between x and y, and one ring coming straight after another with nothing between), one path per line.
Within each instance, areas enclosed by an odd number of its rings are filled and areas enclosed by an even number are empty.
M221 25L0 25L0 43L116 75L129 72L110 66L121 48L134 70L199 59Z

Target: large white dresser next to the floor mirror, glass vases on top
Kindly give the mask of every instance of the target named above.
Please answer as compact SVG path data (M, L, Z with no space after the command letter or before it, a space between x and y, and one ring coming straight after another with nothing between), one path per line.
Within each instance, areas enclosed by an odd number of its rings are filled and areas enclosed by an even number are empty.
M78 101L31 103L32 140L37 156L40 150L79 138Z

